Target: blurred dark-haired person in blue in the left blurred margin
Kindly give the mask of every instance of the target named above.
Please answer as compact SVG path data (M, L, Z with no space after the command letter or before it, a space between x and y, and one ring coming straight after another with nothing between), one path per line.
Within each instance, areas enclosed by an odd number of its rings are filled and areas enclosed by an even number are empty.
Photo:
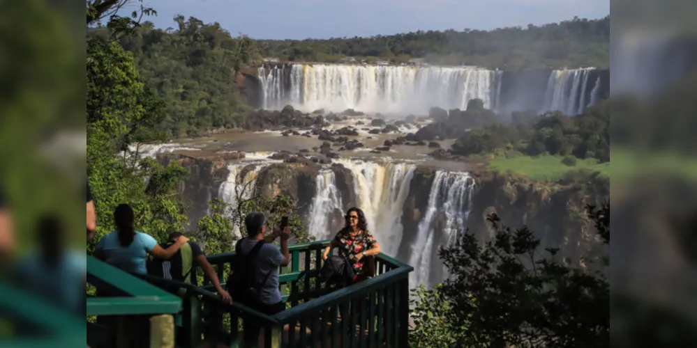
M15 269L17 284L62 308L84 314L87 266L84 253L66 251L66 234L56 216L38 223L38 251L20 260Z

